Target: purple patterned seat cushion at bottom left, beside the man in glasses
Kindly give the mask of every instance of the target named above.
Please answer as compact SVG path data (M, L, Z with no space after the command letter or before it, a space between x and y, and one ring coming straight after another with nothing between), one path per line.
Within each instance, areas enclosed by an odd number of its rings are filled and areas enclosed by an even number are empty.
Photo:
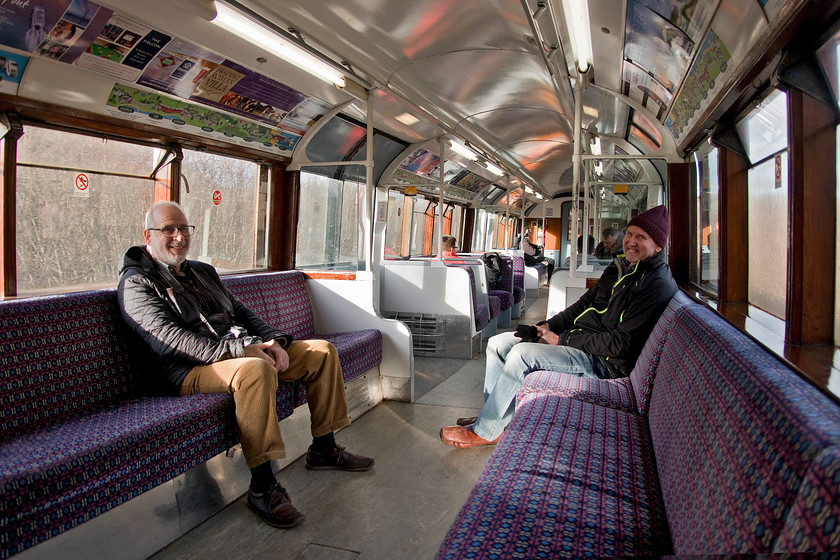
M3 550L84 523L238 441L223 394L139 398L11 438L0 444Z

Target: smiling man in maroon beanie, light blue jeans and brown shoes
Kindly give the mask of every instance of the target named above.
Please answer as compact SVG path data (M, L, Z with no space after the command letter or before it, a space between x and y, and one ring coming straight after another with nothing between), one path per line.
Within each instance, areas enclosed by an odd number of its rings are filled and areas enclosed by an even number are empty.
M651 208L633 217L618 255L598 283L577 302L536 325L539 342L507 332L487 343L484 407L459 418L440 438L454 447L495 443L513 417L525 376L548 370L611 379L627 377L650 332L677 292L662 249L668 242L668 210Z

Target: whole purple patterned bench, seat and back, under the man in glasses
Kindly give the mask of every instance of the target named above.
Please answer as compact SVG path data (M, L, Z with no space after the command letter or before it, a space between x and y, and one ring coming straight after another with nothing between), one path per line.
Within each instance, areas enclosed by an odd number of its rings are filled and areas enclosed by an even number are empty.
M312 336L300 272L226 279L283 330ZM382 335L324 335L346 380L382 360ZM0 302L0 559L54 537L236 445L229 395L148 396L115 290ZM278 416L294 412L292 384Z

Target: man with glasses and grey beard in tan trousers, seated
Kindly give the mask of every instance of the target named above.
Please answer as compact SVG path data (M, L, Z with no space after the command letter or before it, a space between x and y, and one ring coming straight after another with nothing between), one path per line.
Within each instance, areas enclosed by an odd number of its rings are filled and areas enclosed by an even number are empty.
M153 383L173 395L233 396L251 470L248 507L269 525L303 521L274 477L286 456L277 420L278 378L300 381L312 414L310 469L365 471L373 459L345 451L334 432L350 424L338 354L324 340L292 340L265 324L222 284L212 266L188 261L195 226L174 202L146 213L145 245L123 257L117 289L123 319L148 346Z

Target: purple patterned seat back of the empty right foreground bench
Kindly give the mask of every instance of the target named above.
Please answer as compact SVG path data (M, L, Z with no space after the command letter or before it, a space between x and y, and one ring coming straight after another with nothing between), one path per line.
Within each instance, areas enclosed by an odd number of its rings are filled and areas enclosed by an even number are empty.
M677 310L648 418L675 554L837 546L840 406L712 310Z

